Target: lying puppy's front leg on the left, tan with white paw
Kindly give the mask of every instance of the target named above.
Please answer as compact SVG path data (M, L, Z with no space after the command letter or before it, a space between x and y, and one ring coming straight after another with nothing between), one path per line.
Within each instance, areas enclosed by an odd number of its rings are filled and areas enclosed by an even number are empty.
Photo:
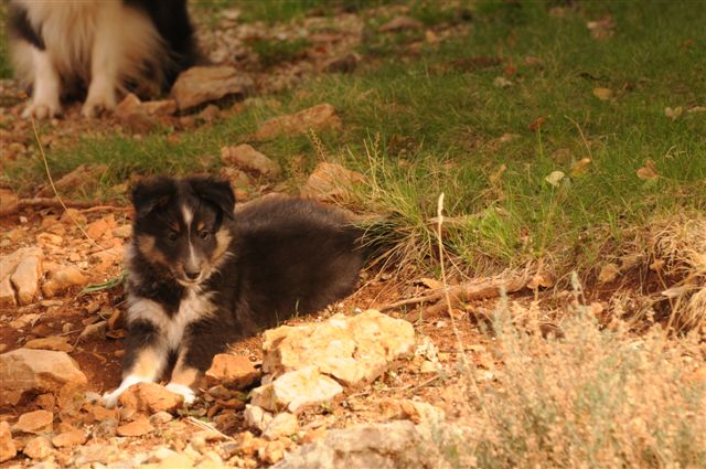
M169 351L159 337L157 327L148 321L130 324L126 341L126 355L122 370L122 383L111 393L106 393L103 401L111 408L120 394L137 383L157 381L167 365Z

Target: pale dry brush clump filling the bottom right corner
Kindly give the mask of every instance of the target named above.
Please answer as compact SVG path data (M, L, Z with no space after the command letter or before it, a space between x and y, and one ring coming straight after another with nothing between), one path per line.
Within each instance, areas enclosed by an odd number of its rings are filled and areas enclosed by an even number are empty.
M600 330L586 310L543 338L495 322L493 381L471 372L463 440L452 466L482 468L706 467L706 347ZM486 373L486 372L485 372ZM449 449L451 448L451 449ZM449 458L447 458L449 459Z

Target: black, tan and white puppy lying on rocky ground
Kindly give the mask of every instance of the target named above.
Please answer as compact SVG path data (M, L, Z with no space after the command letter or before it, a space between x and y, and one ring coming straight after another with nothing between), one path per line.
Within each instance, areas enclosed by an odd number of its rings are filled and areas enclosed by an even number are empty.
M153 382L194 399L193 385L228 343L351 294L361 233L333 209L265 199L234 213L225 181L161 178L132 191L128 334L122 383Z

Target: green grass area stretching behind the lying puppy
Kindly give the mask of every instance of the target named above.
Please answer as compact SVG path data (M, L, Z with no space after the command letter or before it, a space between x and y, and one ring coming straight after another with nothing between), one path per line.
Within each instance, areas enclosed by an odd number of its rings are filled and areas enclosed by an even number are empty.
M272 18L291 19L313 3L261 2L249 14L264 18L258 9L278 6L287 13ZM411 4L413 12L425 11L421 2ZM614 35L592 39L586 22L607 13ZM459 18L436 14L426 22ZM448 230L447 247L477 273L536 262L560 274L592 268L607 251L623 248L628 228L655 213L706 210L706 113L685 111L674 121L664 115L667 106L706 104L705 9L580 2L559 18L543 3L483 2L466 23L468 34L422 43L414 53L410 41L424 40L424 32L383 34L377 25L385 18L365 18L364 61L354 74L313 77L270 96L281 107L255 99L179 143L168 141L169 129L141 141L85 137L53 151L52 168L61 174L86 161L107 163L106 186L132 173L212 171L222 146L244 141L265 119L328 102L344 122L341 132L319 136L329 158L368 177L360 207L389 215L371 233L394 241L400 258L422 267L430 266L428 221L440 192L447 215L464 220ZM281 47L271 51L265 55L281 58ZM527 57L541 64L528 65ZM516 68L506 76L512 86L495 86L509 65ZM597 87L616 97L598 99ZM531 130L539 117L545 124ZM499 143L504 134L517 138ZM307 136L254 145L282 164L290 188L318 159ZM302 168L290 168L292 154L304 156ZM582 158L591 160L587 171L571 175ZM655 180L637 175L648 159ZM41 178L39 170L10 171L24 183ZM569 178L555 188L545 181L552 171Z

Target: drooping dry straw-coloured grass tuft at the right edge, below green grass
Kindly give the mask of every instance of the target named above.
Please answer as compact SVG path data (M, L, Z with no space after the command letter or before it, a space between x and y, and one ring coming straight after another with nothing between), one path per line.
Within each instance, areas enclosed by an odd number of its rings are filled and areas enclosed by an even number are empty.
M662 295L671 302L670 322L677 330L706 328L706 216L659 220L650 233L652 266L677 279Z

